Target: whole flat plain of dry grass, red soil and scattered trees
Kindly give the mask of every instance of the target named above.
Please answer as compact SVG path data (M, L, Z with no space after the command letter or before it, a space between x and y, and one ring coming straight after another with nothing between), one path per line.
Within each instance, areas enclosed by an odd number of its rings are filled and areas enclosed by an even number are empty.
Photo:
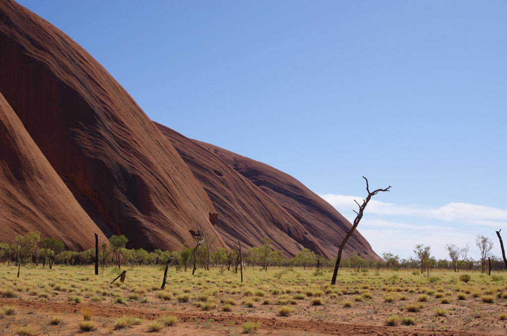
M384 253L384 260L366 261L353 253L330 285L335 261L306 248L284 258L269 239L242 253L241 282L238 249L200 244L192 274L195 242L179 251L148 252L112 237L116 246L100 244L95 275L94 249L62 251L38 238L32 232L0 249L0 326L7 334L282 335L298 329L331 335L340 329L352 335L394 328L398 334L500 335L507 320L503 261L489 257L488 275L481 260L461 260L465 250L456 246L449 249L458 251L454 262L434 259L424 245L408 259ZM23 250L19 242L32 248ZM111 281L123 272L124 282Z

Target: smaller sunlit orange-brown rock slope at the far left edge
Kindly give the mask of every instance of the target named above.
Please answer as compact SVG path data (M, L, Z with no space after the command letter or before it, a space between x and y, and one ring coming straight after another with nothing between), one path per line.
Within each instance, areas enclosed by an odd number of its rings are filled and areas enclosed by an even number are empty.
M105 239L0 94L0 237L39 231L80 250Z

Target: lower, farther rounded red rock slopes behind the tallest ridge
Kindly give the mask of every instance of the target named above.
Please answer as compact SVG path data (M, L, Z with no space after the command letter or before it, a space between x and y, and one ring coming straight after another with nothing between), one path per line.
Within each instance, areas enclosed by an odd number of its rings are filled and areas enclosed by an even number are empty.
M301 247L333 259L351 224L328 202L293 177L220 147L157 127L189 165L219 213L216 230L229 244L237 239L259 246L270 237L276 248L294 256ZM357 231L344 249L378 258Z

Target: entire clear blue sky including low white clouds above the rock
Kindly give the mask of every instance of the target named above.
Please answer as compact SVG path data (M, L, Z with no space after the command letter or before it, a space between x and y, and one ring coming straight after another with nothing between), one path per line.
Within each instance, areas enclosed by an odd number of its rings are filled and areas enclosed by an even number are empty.
M150 118L280 169L380 255L500 255L505 1L35 1ZM503 231L502 231L503 232Z

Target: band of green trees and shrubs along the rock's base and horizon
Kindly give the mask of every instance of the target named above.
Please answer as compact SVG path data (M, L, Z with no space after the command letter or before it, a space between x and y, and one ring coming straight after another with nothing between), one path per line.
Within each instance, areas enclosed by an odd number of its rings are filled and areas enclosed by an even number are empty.
M239 251L233 248L227 252L223 247L211 248L210 244L202 243L196 247L196 243L185 243L182 250L161 250L155 249L152 252L139 249L126 248L128 239L124 236L113 235L108 241L99 246L98 261L100 267L121 267L135 265L165 265L169 263L177 270L187 271L192 269L194 262L197 267L209 270L210 267L227 268L235 270L239 265ZM195 251L194 251L195 250ZM195 253L194 253L195 252ZM195 258L194 258L195 256ZM470 258L464 260L443 260L430 257L421 260L420 257L400 259L390 253L383 254L384 260L365 260L356 252L342 260L340 267L351 271L368 271L370 269L380 270L456 270L456 271L480 271L481 260L475 261ZM95 248L84 251L65 250L64 244L53 238L41 240L39 232L29 232L26 235L17 236L12 243L0 242L0 261L16 266L33 263L52 267L57 265L92 265L95 262ZM504 270L505 265L500 258L490 257L491 270ZM303 248L294 258L285 258L281 251L273 249L271 240L264 238L260 246L250 247L242 250L242 263L245 267L304 267L304 268L329 268L333 267L334 260L326 260L315 254L308 248ZM459 269L456 269L456 262Z

